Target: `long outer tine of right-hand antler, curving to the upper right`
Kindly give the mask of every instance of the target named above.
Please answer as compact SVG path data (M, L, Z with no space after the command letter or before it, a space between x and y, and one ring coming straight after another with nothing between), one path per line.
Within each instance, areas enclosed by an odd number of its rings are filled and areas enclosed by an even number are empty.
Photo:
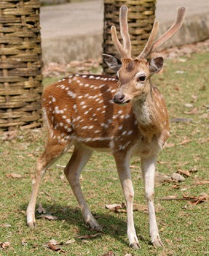
M168 29L167 32L165 32L165 34L162 35L162 37L159 37L159 39L157 39L154 42L151 49L152 52L156 50L164 42L166 42L168 39L170 39L170 37L173 37L173 34L175 34L178 31L178 29L181 29L181 26L184 22L185 15L186 15L186 7L178 7L176 20L174 21L170 29Z

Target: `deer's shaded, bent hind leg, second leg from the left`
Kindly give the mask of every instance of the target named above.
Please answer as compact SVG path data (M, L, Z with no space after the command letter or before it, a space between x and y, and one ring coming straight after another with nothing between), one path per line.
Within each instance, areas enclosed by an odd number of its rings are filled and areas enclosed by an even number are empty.
M76 196L76 200L79 203L79 207L82 210L82 215L84 217L84 221L87 222L92 229L101 230L100 225L92 216L90 208L87 206L87 203L82 194L82 189L79 181L80 173L83 167L87 164L88 160L92 155L92 150L90 148L84 147L82 145L76 145L74 148L74 153L68 165L65 168L65 174L71 185L71 188Z

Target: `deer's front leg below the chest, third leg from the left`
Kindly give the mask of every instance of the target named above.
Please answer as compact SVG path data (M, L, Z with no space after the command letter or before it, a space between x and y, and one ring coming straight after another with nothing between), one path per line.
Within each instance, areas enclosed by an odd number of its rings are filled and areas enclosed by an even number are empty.
M133 221L133 197L134 190L132 179L130 175L130 157L115 155L117 164L117 170L119 173L119 179L122 184L122 189L125 195L126 208L127 208L127 237L129 244L133 249L140 249L141 246L138 243L138 238L135 233L134 221Z

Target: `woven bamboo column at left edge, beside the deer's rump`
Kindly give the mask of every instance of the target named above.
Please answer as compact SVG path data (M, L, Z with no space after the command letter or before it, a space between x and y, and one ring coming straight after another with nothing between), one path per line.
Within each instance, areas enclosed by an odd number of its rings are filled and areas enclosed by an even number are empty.
M0 1L0 129L41 124L39 0Z

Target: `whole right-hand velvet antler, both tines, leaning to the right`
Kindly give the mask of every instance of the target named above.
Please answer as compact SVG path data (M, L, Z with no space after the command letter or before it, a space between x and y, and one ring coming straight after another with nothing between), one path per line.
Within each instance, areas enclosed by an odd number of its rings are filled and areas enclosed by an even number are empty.
M151 34L149 36L148 41L146 42L145 48L140 53L140 55L135 59L142 59L147 58L154 50L156 50L160 45L162 45L164 42L166 42L170 37L173 37L173 35L178 31L178 29L181 29L181 26L184 22L186 14L186 7L179 7L177 9L177 16L176 20L174 21L173 25L168 29L165 34L163 34L159 39L155 40L155 37L157 36L157 30L158 30L158 23L155 22L153 29L151 30Z

